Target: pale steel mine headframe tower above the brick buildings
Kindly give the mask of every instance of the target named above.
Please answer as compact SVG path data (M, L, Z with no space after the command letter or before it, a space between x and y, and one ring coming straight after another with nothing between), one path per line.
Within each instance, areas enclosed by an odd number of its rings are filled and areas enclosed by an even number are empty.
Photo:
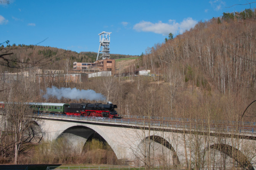
M109 59L110 53L109 53L109 43L110 43L110 33L112 32L101 32L99 33L100 36L100 47L97 55L97 60L102 57L102 60ZM101 49L102 47L102 49ZM101 49L101 50L100 50ZM102 53L102 56L99 57L100 52Z

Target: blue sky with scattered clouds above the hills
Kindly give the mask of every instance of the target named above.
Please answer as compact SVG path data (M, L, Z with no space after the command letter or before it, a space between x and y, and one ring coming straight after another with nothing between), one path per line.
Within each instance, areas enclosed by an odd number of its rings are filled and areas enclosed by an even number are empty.
M223 12L250 8L248 1L21 1L0 0L0 43L98 52L102 31L110 35L110 54L140 55ZM230 7L235 5L233 7ZM254 8L256 3L251 4Z

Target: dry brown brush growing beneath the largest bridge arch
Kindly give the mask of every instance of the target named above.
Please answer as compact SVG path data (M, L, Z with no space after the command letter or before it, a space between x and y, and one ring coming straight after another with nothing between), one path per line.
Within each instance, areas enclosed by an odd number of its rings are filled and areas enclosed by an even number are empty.
M20 164L118 164L114 151L107 143L93 139L74 147L65 138L35 146L20 157Z

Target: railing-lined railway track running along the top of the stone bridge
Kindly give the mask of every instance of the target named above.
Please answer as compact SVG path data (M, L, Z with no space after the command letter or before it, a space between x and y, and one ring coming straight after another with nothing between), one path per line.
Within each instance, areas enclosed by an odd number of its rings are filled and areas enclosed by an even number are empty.
M164 121L152 121L152 120L134 120L134 119L119 119L119 118L103 118L103 117L85 117L63 114L49 114L39 113L41 117L54 118L61 120L73 120L73 121L94 121L104 123L115 123L120 125L135 125L135 126L147 126L150 128L169 128L175 130L190 130L190 131L205 131L209 132L235 132L235 133L255 133L256 127L235 126L233 124L208 124L203 122L164 122Z

